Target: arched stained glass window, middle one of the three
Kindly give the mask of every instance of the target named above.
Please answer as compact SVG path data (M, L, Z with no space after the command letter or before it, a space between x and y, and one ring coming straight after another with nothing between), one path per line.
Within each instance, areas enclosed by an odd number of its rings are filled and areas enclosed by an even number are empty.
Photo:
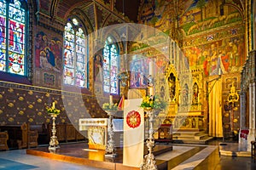
M79 20L68 20L64 32L64 84L87 88L87 41Z

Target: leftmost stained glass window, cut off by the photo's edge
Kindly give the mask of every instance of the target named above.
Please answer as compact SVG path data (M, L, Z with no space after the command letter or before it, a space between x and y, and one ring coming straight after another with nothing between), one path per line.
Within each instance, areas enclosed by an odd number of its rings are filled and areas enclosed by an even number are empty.
M26 75L25 6L19 0L0 0L0 71L21 76Z

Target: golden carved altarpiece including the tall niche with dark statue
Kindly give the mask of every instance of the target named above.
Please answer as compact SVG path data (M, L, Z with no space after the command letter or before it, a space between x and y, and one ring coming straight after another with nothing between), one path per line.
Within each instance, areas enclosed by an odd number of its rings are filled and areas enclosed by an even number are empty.
M177 74L174 66L169 65L166 70L166 81L169 83L170 94L167 117L172 122L172 127L179 130L202 130L204 115L201 105L203 98L201 69Z

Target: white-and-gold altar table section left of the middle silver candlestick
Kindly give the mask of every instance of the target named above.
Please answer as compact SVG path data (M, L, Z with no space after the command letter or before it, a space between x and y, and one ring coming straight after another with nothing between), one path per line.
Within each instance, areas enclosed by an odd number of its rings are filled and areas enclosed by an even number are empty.
M107 144L107 118L79 119L79 131L87 130L90 149L105 150Z

